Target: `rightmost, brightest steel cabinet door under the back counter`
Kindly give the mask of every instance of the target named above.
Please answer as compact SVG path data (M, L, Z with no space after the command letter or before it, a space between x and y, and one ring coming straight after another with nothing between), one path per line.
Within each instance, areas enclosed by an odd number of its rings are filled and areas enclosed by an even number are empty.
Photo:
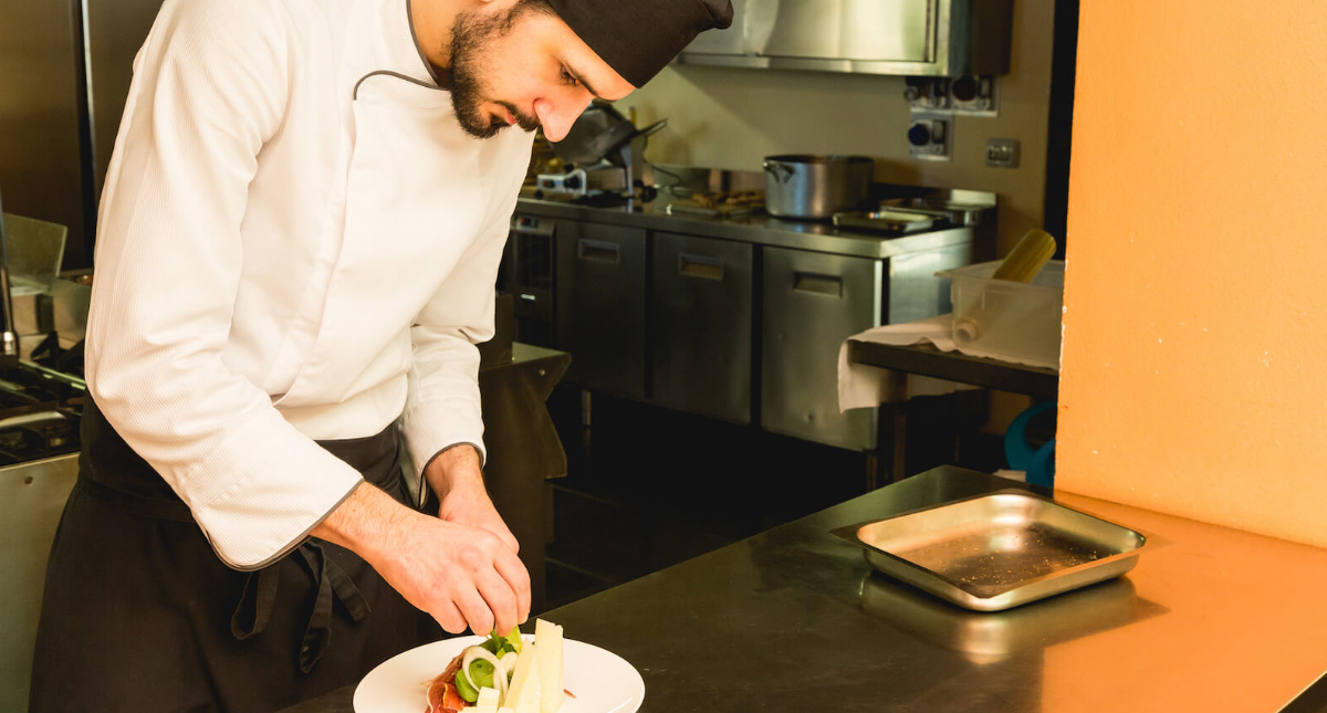
M760 427L874 447L874 410L839 411L839 346L881 323L884 262L764 248Z

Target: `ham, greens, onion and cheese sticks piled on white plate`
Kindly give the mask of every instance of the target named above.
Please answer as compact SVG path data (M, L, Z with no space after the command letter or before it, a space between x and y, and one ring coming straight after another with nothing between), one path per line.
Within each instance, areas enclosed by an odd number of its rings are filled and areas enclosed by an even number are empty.
M563 679L563 627L537 619L533 641L516 628L462 649L429 681L425 713L559 713Z

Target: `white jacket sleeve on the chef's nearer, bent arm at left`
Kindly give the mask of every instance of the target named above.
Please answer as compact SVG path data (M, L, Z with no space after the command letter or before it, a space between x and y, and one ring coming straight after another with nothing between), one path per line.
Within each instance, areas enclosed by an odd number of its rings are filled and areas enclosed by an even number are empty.
M295 547L361 476L227 370L240 221L289 91L289 20L264 0L170 0L134 62L97 236L88 384L223 562Z

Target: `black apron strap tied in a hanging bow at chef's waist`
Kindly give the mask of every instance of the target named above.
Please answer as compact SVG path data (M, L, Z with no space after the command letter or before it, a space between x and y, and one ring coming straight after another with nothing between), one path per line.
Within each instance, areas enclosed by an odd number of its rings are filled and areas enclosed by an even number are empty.
M317 586L313 599L313 612L309 623L304 628L304 640L300 643L300 671L311 673L322 653L326 652L332 640L332 610L334 600L340 600L352 622L358 623L372 611L368 599L360 587L354 584L345 570L326 555L321 545L305 541L296 550L300 562L308 570ZM284 559L283 559L284 562ZM272 618L272 607L276 603L277 582L281 579L281 562L259 571L249 573L244 582L240 600L231 615L231 633L240 641L263 633Z

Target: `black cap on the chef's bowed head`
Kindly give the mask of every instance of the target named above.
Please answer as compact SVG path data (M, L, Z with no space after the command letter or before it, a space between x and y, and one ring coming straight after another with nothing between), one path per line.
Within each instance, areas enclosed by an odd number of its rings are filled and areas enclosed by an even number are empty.
M581 40L641 87L697 34L733 24L730 0L549 0Z

